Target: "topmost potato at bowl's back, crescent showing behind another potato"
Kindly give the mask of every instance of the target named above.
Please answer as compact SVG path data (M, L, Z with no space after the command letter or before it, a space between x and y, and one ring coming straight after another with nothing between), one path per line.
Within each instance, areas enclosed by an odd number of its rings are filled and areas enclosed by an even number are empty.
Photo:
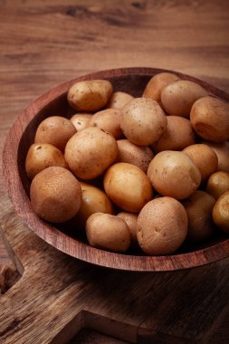
M176 74L170 72L160 72L154 75L149 81L143 92L142 97L151 98L160 102L161 91L174 81L178 81L180 78Z

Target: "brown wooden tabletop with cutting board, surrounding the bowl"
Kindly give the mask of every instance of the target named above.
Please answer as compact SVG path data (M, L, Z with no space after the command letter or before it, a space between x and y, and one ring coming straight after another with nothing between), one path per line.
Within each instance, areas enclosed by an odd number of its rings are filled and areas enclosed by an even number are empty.
M24 107L83 73L158 67L229 91L228 11L227 0L1 0L1 151ZM1 343L228 342L228 259L164 273L82 263L22 223L0 178Z

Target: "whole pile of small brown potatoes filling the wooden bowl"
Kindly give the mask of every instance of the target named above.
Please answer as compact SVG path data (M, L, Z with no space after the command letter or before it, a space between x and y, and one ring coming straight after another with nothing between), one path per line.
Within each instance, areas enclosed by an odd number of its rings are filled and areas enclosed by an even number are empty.
M71 220L117 253L175 253L229 233L228 103L167 72L139 98L93 80L67 99L76 113L44 119L25 161L43 220Z

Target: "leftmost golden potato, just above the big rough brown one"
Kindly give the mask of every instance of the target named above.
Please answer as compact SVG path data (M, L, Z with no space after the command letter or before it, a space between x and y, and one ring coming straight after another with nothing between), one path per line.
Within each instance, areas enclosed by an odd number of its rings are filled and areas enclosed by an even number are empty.
M48 143L33 143L25 159L27 176L33 179L44 168L52 166L68 168L62 151Z

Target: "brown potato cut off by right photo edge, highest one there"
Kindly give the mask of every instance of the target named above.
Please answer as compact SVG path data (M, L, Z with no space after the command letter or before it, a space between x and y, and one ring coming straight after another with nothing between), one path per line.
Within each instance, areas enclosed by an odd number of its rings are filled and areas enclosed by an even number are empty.
M229 104L214 97L196 100L190 120L196 133L203 139L224 142L229 139Z

